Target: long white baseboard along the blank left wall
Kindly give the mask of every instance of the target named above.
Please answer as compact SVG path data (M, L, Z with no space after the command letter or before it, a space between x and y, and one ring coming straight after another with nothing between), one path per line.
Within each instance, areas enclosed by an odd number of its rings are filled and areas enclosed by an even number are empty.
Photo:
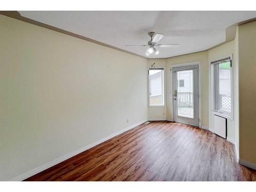
M124 128L123 130L120 130L120 131L118 131L118 132L116 132L116 133L113 133L113 134L110 135L110 136L104 137L103 139L100 139L100 140L98 140L98 141L96 141L96 142L94 142L94 143L92 143L92 144L89 144L89 145L87 145L87 146L84 146L84 147L82 147L82 148L79 148L79 150L76 150L76 151L74 151L74 152L71 152L70 154L67 154L67 155L65 155L65 156L62 156L62 157L60 157L60 158L58 158L58 159L56 159L56 160L54 160L54 161L52 161L52 162L49 162L49 163L47 163L47 164L45 164L45 165L42 165L42 166L39 166L39 167L37 167L37 168L35 168L35 169L33 169L33 170L30 170L29 172L27 172L27 173L25 173L25 174L22 174L22 175L20 175L20 176L18 176L18 177L15 177L15 178L13 178L11 181L23 181L23 180L25 180L25 179L27 179L27 178L29 178L29 177L35 175L35 174L38 174L38 173L42 172L43 170L46 170L46 169L48 169L48 168L50 168L50 167L52 167L52 166L54 166L54 165L56 165L56 164L58 164L58 163L60 163L60 162L62 162L62 161L65 161L65 160L67 160L67 159L69 159L69 158L71 158L71 157L73 157L73 156L75 156L75 155L77 155L77 154L79 154L79 153L81 153L81 152L84 152L84 151L86 151L86 150L89 150L89 148L92 148L92 147L94 147L94 146L96 146L96 145L98 145L98 144L100 144L100 143L102 143L102 142L104 142L104 141L106 141L106 140L109 140L109 139L111 139L111 138L113 138L113 137L115 137L115 136L117 136L117 135L120 135L120 134L123 133L123 132L126 132L126 131L128 131L128 130L131 130L131 129L133 129L134 127L136 127L136 126L138 126L138 125L140 125L140 124L142 124L142 123L144 123L144 122L146 122L146 121L147 121L147 120L143 120L143 121L140 121L140 122L138 122L138 123L135 123L135 124L133 124L133 125L131 125L131 126L129 126L129 127Z

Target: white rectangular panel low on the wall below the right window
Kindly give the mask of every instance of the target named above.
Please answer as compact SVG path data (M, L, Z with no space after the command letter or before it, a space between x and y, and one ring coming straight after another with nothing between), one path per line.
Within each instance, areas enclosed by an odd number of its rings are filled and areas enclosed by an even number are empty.
M227 119L218 115L214 116L214 133L227 139Z

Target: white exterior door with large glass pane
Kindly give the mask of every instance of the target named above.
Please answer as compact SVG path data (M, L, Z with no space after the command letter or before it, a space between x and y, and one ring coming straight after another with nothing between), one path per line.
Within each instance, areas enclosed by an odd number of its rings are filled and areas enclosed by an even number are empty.
M173 68L174 121L199 126L198 65Z

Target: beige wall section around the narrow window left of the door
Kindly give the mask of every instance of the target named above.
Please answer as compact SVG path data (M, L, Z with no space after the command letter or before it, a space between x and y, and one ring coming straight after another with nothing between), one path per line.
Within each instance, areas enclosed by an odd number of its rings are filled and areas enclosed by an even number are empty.
M147 59L147 67L151 68L155 62L155 68L164 69L164 106L148 106L148 120L166 120L166 59Z

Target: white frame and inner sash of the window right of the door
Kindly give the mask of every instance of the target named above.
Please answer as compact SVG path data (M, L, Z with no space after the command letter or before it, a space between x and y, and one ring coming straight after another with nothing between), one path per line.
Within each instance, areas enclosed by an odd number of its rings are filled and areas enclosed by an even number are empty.
M230 68L230 99L231 99L231 109L230 113L226 111L219 110L217 111L216 109L218 108L219 105L219 87L218 87L218 73L215 75L215 70L218 70L217 64L218 61L224 60L224 59L230 59L231 62L231 68ZM214 70L214 68L217 68ZM217 90L217 91L216 91ZM212 114L219 115L221 117L227 118L227 119L233 119L233 57L232 54L223 56L221 58L217 58L214 60L209 61L209 111Z

